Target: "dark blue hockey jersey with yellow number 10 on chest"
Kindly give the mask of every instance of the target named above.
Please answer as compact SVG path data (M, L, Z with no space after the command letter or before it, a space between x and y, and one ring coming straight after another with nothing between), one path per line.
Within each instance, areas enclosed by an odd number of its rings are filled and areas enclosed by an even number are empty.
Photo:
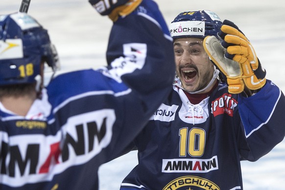
M240 161L285 137L284 94L270 80L247 98L220 83L193 105L177 84L136 138L139 164L120 190L242 190Z

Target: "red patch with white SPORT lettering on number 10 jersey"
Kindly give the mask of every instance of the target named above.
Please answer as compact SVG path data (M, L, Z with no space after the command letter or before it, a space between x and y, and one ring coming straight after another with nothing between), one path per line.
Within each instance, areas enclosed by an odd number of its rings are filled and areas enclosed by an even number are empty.
M235 107L237 107L237 100L230 94L223 94L212 101L211 113L214 117L224 113L233 117Z

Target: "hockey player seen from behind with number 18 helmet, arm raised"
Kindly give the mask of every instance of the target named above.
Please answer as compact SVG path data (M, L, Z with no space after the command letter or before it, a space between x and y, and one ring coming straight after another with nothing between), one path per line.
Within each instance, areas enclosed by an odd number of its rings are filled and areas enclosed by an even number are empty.
M100 12L114 20L108 67L58 75L46 88L44 62L57 65L47 30L24 13L0 16L0 189L98 189L98 167L123 154L166 99L175 62L157 4L117 2Z

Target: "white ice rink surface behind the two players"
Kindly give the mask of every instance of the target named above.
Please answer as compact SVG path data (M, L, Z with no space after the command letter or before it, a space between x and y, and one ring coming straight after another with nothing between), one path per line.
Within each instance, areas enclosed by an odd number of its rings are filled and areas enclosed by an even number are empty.
M184 11L208 9L233 21L251 41L272 80L285 92L285 3L283 0L156 0L169 24ZM0 0L0 14L17 12L21 0ZM32 0L29 14L49 31L57 47L61 72L106 65L112 22L87 0ZM137 164L131 152L100 167L100 190L119 190L121 180ZM242 162L244 190L285 189L285 141L259 161Z

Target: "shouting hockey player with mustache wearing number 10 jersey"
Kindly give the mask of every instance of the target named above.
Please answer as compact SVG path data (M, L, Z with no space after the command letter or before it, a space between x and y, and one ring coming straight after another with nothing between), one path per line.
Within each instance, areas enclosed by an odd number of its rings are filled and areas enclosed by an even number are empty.
M139 164L120 190L242 190L240 161L284 139L285 96L235 24L189 11L169 29L173 91L136 138Z

